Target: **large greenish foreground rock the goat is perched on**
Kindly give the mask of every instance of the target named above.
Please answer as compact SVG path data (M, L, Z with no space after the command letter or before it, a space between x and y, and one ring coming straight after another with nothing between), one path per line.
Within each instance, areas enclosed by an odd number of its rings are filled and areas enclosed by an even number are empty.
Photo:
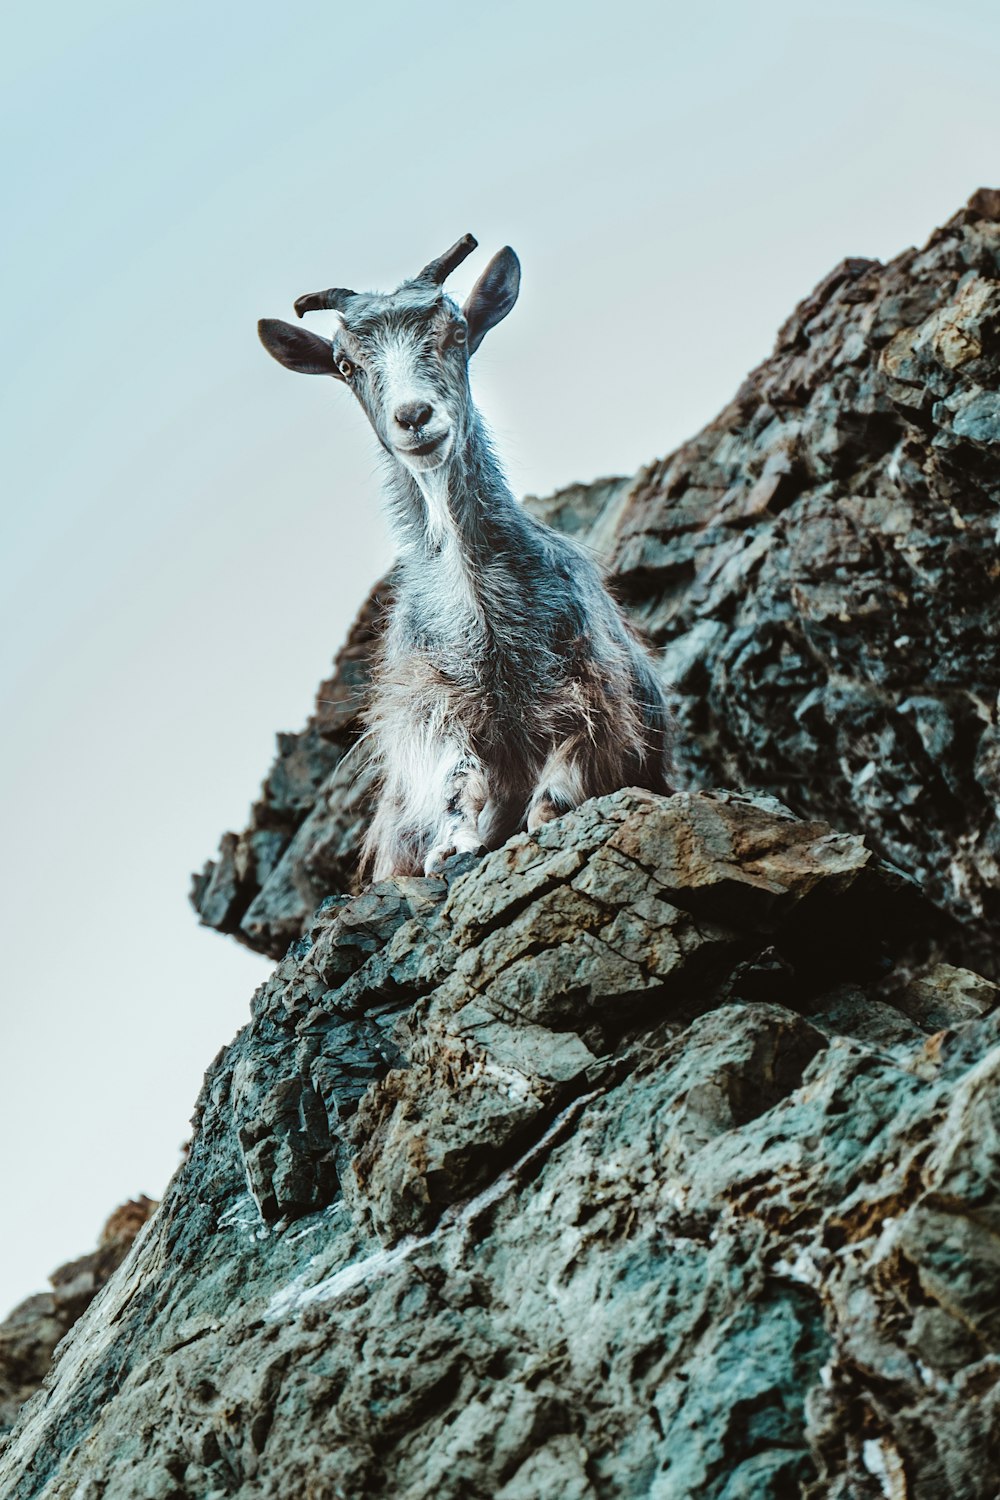
M988 1500L1000 1012L925 926L726 792L328 900L4 1500Z

